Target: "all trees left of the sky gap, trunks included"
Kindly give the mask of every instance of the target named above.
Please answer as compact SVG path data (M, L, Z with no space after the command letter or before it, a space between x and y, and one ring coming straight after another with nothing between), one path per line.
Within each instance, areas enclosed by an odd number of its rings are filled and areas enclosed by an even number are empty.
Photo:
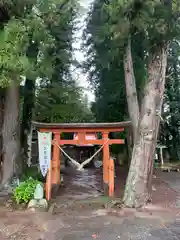
M26 166L32 120L84 122L94 117L70 71L77 1L7 0L1 1L0 13L3 186Z

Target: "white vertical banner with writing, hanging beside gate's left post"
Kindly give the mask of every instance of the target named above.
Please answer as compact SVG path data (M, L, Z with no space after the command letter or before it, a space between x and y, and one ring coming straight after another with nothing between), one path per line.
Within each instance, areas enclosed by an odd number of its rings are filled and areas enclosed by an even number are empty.
M39 146L39 165L43 177L46 176L50 168L51 161L51 132L38 132L38 146Z

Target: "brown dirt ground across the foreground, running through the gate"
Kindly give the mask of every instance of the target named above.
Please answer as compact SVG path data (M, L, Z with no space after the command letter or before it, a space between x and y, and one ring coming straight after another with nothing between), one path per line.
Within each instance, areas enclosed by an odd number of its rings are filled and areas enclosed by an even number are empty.
M126 171L116 172L116 197L122 196ZM170 240L180 239L180 173L155 172L153 202L145 209L110 208L102 196L102 172L64 175L53 212L0 208L0 240Z

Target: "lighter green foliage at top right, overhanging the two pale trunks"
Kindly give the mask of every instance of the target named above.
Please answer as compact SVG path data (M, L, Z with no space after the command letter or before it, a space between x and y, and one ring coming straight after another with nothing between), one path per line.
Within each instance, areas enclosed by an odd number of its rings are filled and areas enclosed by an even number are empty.
M126 1L112 0L104 4L112 28L112 38L117 46L123 47L127 38L138 32L144 32L148 51L177 36L179 27L179 1Z

